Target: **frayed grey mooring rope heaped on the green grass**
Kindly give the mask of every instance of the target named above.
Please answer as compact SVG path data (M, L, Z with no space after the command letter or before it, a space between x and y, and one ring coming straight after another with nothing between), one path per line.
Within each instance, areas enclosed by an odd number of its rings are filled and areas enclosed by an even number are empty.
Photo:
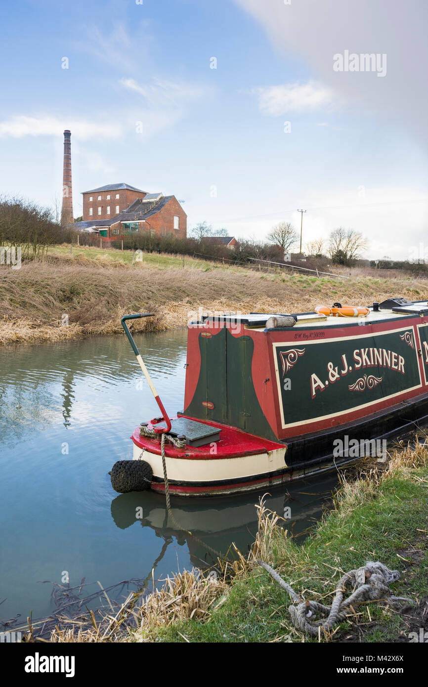
M391 605L396 605L398 601L412 603L411 599L403 596L390 596L389 585L396 582L400 577L398 570L389 570L383 563L373 563L369 561L357 570L350 570L344 574L336 585L335 597L331 606L325 606L318 601L304 601L295 593L293 587L287 584L273 567L264 561L257 561L258 565L264 567L273 579L278 582L282 589L285 589L297 605L289 606L291 620L297 629L311 635L319 635L320 630L330 631L336 624L345 620L349 616L348 609L352 605L366 601L385 599ZM346 587L351 587L352 592L348 598L343 598L346 594ZM322 616L317 620L317 616Z

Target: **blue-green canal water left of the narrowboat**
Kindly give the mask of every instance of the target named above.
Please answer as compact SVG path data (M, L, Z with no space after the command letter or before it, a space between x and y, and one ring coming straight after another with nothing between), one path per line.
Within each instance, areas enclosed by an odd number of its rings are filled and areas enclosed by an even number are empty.
M186 335L135 337L170 414L183 409ZM263 492L172 498L192 539L168 522L162 495L113 491L108 473L132 457L133 429L159 414L124 337L8 346L0 370L0 622L52 613L54 583L74 587L85 578L82 596L100 589L97 581L105 588L149 578L151 588L153 568L156 583L209 565L201 541L224 553L232 541L248 550ZM336 482L276 488L267 506L279 515L290 508L286 526L300 534L319 519Z

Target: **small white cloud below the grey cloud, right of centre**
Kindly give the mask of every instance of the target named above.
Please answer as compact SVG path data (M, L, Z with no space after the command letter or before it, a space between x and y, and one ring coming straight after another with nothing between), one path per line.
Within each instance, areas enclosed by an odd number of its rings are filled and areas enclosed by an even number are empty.
M331 89L313 81L305 84L256 88L251 92L258 95L260 111L274 117L286 115L289 112L310 112L322 107L331 108L334 101Z

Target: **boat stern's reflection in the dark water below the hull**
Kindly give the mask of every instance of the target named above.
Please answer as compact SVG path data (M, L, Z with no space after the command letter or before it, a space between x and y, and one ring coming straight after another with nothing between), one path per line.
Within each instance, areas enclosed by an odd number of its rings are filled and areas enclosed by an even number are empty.
M286 489L277 487L267 493L265 504L281 517L289 516L280 524L297 541L302 541L308 528L315 525L324 508L331 503L337 483L337 474L300 480L289 484ZM213 556L204 544L223 556L232 542L243 554L248 552L257 532L256 504L263 494L261 491L234 497L171 497L174 519L183 530L190 530L193 537L174 527L168 517L165 496L151 490L120 494L111 502L111 515L122 530L139 523L143 530L152 528L157 537L164 539L156 564L176 539L179 545L187 544L192 565L203 568L213 563Z

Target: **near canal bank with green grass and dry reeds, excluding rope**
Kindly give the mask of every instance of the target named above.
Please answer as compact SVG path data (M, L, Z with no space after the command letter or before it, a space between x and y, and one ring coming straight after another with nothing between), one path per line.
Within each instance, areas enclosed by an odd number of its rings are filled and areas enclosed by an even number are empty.
M182 572L162 589L130 594L121 608L51 620L51 642L395 642L428 629L428 444L403 447L387 465L348 473L329 510L297 545L276 514L259 507L248 555L219 561L218 575ZM291 520L293 514L291 514ZM305 600L330 605L344 572L381 561L398 570L391 594L412 599L355 607L328 635L304 635L291 622L289 594L256 563L267 561ZM110 602L109 602L110 603ZM354 612L353 612L354 611ZM38 629L45 621L38 623ZM37 629L32 638L37 639ZM46 639L45 639L46 640Z

